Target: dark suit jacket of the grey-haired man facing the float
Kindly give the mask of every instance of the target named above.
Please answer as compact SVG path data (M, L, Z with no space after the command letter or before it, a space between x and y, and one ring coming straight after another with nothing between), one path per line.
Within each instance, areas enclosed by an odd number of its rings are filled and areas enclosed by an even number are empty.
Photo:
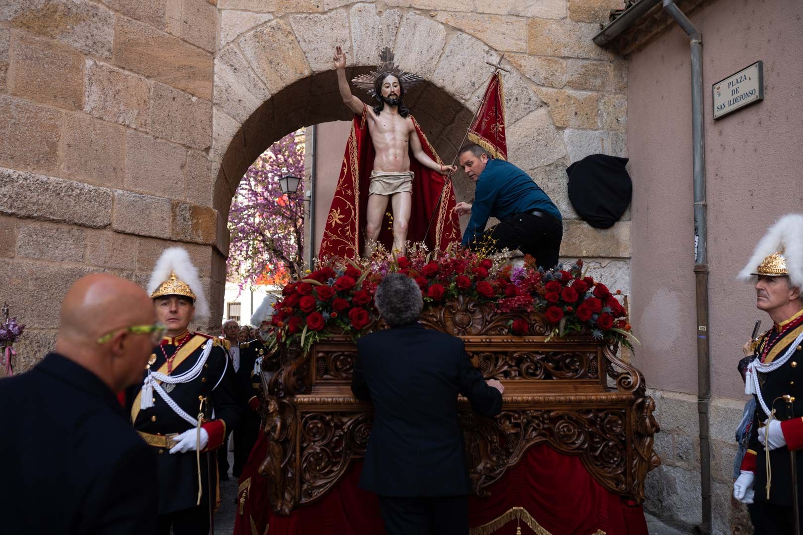
M460 338L420 323L357 341L352 391L373 402L360 487L380 496L459 496L471 490L457 397L483 415L502 395L487 386Z

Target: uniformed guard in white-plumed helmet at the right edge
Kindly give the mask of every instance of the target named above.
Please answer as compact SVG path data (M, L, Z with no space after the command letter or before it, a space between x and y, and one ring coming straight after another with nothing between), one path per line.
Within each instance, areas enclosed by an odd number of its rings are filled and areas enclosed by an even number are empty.
M773 225L740 278L756 281L756 306L769 314L773 326L750 345L745 393L756 397L756 413L733 493L754 504L755 533L800 533L803 215L790 214Z

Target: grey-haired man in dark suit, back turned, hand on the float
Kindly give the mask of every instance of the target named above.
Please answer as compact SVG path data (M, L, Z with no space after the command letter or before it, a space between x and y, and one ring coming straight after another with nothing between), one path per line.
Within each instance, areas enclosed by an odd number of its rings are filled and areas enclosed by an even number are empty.
M352 391L374 407L360 487L379 496L389 535L466 535L470 485L457 397L492 416L504 389L472 366L463 340L418 322L423 301L413 279L388 275L374 301L390 328L357 341Z

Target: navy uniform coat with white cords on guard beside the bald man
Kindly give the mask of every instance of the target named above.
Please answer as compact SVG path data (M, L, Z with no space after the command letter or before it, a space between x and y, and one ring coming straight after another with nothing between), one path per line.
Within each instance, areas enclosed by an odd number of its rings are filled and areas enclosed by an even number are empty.
M211 411L206 413L209 422L204 424L204 427L209 432L209 444L201 455L203 489L201 505L206 505L209 503L206 452L218 448L222 444L226 432L237 425L240 408L234 386L234 367L230 362L231 359L226 355L226 350L219 345L222 340L199 333L188 333L186 336L190 337L189 341L185 342L178 351L176 351L176 347L184 341L183 337L162 340L161 345L154 348L153 355L156 355L156 361L150 366L150 369L164 373L162 370L165 365L165 355L171 357L175 353L173 371L170 375L180 375L190 370L198 361L206 342L211 340L215 344L204 364L201 375L190 383L177 384L173 391L168 393L173 401L193 418L198 418L200 408L198 398L200 396L208 399L209 407L214 409L213 414L210 414ZM188 351L190 349L192 351ZM168 435L193 428L189 422L177 415L165 403L155 389L153 390L153 407L141 409L140 389L141 384L137 385L136 389L129 391L126 396L131 419L137 431L150 435ZM158 480L153 485L153 488L159 488L158 514L174 513L181 509L195 507L198 502L198 460L195 451L171 454L169 448L153 446L152 449L157 454L159 472ZM213 484L215 482L216 480L213 480Z

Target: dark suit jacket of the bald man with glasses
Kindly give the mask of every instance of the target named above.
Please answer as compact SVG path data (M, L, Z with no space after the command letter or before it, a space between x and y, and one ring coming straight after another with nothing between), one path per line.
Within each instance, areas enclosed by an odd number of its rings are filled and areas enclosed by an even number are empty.
M0 428L0 532L156 532L156 456L92 372L51 353L0 380Z

